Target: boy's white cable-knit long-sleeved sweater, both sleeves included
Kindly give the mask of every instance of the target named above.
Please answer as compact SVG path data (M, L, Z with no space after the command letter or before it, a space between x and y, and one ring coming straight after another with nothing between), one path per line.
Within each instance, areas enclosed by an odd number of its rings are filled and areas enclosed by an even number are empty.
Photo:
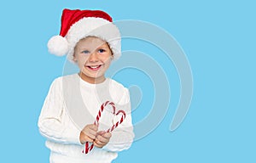
M102 149L94 147L89 154L82 153L80 131L92 124L105 101L113 101L117 110L125 110L125 121L112 132L109 143ZM118 121L112 108L103 110L99 131L105 131ZM129 149L134 138L131 123L131 104L127 88L112 79L100 84L84 82L78 74L61 76L49 88L38 120L41 134L47 138L51 150L51 163L107 163L117 157L117 152Z

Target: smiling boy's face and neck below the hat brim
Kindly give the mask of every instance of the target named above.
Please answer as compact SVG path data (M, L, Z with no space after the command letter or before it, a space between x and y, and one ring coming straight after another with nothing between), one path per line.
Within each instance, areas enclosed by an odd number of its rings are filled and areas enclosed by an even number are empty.
M79 65L80 76L85 82L100 83L112 60L108 43L97 37L86 37L74 48L74 61Z

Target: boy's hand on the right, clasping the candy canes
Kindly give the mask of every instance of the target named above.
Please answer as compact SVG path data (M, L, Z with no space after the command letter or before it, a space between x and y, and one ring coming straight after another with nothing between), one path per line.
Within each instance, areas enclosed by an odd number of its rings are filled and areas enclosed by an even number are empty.
M112 134L110 132L103 132L103 131L97 132L97 136L93 144L98 148L102 148L109 142L109 139L111 138L111 136Z

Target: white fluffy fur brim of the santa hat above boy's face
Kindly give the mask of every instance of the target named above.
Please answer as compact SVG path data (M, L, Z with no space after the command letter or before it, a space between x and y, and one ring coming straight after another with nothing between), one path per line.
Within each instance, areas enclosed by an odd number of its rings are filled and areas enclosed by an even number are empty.
M66 38L69 45L67 59L73 60L76 44L85 37L99 37L108 42L113 52L113 59L118 59L121 55L121 37L118 27L108 20L90 17L79 20L67 32Z

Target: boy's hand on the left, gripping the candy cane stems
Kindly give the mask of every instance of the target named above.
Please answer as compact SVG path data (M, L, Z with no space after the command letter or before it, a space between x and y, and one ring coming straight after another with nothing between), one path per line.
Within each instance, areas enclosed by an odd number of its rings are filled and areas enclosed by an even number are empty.
M96 139L98 126L91 124L84 126L84 129L80 132L80 143L93 142Z

